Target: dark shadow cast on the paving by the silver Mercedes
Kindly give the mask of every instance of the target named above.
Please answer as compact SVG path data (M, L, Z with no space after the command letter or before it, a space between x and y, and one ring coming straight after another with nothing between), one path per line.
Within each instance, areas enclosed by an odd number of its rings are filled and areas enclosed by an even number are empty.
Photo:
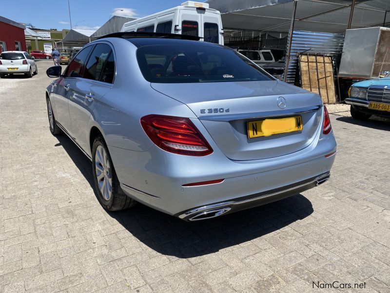
M91 162L66 135L57 139L59 144L55 146L63 146L93 188ZM269 234L312 212L312 203L297 194L265 206L199 222L184 222L139 203L131 209L107 213L151 249L164 255L191 258Z

